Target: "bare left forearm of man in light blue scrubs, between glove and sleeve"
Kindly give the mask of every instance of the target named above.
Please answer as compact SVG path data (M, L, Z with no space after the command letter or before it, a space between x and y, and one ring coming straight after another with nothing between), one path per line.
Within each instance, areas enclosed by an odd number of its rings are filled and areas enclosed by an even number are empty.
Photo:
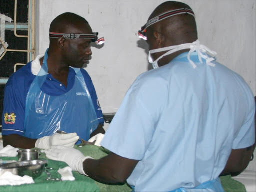
M110 153L98 160L84 160L83 170L89 177L100 182L124 183L137 163L138 160L124 158Z

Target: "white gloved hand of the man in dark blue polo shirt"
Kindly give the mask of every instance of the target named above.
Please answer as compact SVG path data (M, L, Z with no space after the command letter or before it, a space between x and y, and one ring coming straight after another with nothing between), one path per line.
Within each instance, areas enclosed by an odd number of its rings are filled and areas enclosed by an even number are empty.
M38 138L35 142L35 147L48 149L52 145L63 145L73 147L74 144L79 139L76 133L68 133L68 134L58 134L55 133L51 136L44 136L42 138Z

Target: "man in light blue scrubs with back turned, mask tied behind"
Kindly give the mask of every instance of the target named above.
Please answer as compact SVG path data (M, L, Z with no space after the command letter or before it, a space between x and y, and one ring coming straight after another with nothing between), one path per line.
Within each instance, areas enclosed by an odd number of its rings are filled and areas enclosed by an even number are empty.
M249 86L200 44L184 3L159 5L139 35L155 69L137 77L108 127L100 144L111 153L96 160L53 146L47 157L133 191L223 192L219 175L243 171L253 152Z

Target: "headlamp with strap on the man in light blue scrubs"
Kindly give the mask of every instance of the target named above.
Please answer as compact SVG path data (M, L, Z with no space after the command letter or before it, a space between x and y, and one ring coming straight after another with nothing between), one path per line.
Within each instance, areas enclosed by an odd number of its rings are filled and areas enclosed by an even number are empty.
M138 31L138 37L142 38L144 40L147 40L147 37L146 37L146 28L147 27L149 27L152 24L159 22L165 18L174 16L174 15L178 15L178 14L190 14L190 15L194 16L194 12L187 8L180 8L180 9L175 9L175 10L165 12L163 14L160 14L159 16L156 16L156 17L148 20L147 23L141 27L141 30Z

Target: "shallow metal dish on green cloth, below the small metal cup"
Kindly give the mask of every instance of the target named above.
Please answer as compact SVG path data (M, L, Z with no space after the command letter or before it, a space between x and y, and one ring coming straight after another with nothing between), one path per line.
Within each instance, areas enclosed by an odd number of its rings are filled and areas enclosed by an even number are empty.
M47 160L25 160L0 164L0 176L4 172L9 171L15 175L28 175L33 178L37 178L43 172L47 162Z

